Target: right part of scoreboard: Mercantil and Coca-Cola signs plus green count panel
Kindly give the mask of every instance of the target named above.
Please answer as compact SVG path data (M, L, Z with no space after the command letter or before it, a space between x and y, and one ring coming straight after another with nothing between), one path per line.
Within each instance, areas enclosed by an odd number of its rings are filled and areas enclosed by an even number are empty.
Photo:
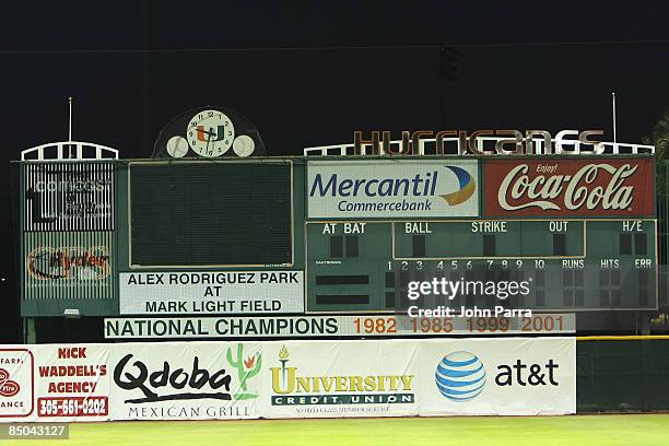
M406 312L411 304L408 284L435 278L527 282L528 293L501 300L479 289L441 302L433 298L429 306L503 305L536 312L657 308L652 159L443 159L407 161L410 169L403 163L314 163L317 174L309 173L315 186L309 189L308 213L314 214L316 201L318 216L327 216L321 211L327 209L339 219L306 222L310 310ZM478 169L471 163L478 163ZM439 187L434 178L443 181L444 192L456 191L427 196L427 188ZM355 196L360 179L365 183L359 192L371 193ZM368 204L372 197L384 204L398 203L395 192L403 179L418 184L410 199L419 204L426 200L427 211L409 210L402 219L387 219L382 211L380 219L341 220L351 206ZM429 180L433 183L425 186ZM342 187L345 181L352 186ZM378 197L380 186L364 189L369 181L386 181L388 193ZM402 203L407 196L411 193L401 197ZM378 211L366 209L368 216ZM435 219L437 213L444 218ZM457 219L460 215L466 216ZM425 306L423 301L415 304Z

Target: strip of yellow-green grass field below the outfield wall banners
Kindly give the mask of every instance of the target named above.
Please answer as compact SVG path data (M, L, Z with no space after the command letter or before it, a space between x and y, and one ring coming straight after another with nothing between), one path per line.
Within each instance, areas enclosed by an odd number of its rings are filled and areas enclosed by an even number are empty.
M44 441L0 441L28 446ZM665 446L669 414L537 418L431 418L113 422L70 425L48 445L433 445Z

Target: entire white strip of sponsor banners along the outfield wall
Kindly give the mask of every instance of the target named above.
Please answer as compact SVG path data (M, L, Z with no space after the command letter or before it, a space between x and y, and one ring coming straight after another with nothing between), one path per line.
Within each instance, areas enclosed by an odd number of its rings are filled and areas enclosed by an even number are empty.
M575 411L574 338L0 349L0 422Z

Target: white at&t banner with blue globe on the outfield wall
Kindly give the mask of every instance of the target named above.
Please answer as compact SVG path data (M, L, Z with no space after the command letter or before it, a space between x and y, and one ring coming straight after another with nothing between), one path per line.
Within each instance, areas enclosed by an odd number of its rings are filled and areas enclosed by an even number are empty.
M576 342L565 338L426 340L420 415L576 412Z

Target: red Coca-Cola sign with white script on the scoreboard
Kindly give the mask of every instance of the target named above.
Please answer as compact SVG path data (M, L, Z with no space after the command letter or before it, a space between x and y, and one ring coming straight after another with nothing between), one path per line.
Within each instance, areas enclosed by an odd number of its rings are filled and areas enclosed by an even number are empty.
M483 178L488 216L655 213L650 157L490 160Z

